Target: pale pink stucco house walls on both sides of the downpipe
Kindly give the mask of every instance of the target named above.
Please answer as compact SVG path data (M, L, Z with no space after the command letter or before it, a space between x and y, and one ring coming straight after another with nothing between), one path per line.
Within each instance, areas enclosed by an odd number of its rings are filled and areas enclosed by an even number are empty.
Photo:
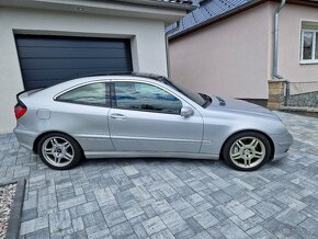
M269 99L279 7L279 2L264 1L170 41L172 79L209 94ZM300 61L304 21L318 30L318 8L286 3L280 12L279 73L291 82L318 82L318 62Z

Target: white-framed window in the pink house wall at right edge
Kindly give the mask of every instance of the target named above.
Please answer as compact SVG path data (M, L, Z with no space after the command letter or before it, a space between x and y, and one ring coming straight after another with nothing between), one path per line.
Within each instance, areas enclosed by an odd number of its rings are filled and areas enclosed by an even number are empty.
M300 61L318 64L318 30L303 29Z

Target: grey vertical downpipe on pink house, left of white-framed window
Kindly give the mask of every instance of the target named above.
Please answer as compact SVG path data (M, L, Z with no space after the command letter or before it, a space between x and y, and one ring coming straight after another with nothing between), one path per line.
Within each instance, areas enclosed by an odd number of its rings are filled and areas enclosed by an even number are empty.
M274 56L273 56L273 78L283 79L279 75L279 23L280 23L280 12L284 8L286 0L282 0L281 5L276 9L274 15Z

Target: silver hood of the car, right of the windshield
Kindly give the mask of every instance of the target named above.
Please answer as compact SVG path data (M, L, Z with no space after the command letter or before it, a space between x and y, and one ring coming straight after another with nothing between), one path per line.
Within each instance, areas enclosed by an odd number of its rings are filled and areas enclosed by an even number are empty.
M271 117L279 120L279 116L275 115L270 110L262 107L257 104L249 103L242 100L236 100L231 98L220 98L220 96L211 96L212 103L206 107L206 110L220 110L232 113L253 115L260 117Z

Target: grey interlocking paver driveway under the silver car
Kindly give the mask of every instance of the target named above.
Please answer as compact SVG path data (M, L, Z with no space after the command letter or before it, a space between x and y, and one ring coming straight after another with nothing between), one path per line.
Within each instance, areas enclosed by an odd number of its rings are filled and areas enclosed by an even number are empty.
M295 143L255 172L218 161L87 160L54 171L0 136L0 181L26 178L25 238L318 238L318 120L277 113Z

